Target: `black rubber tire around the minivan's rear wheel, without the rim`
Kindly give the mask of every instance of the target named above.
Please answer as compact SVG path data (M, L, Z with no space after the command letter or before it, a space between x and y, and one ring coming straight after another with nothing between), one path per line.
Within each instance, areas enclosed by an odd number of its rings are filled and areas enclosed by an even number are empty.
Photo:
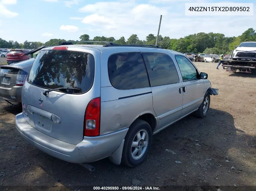
M145 150L145 153L141 156L141 158L134 159L131 154L131 144L134 141L133 140L134 137L141 130L145 130L148 133L148 146ZM125 136L125 143L123 147L122 160L121 160L122 164L128 167L135 167L143 163L146 160L146 157L149 153L149 150L151 148L151 143L152 143L152 129L150 125L141 119L136 119L129 127L129 130Z

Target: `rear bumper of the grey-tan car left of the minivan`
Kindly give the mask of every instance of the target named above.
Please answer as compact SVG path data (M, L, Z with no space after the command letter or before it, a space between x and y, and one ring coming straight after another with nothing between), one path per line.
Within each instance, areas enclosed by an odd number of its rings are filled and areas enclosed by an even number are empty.
M21 103L22 86L13 86L12 88L5 88L0 86L0 98L7 101Z

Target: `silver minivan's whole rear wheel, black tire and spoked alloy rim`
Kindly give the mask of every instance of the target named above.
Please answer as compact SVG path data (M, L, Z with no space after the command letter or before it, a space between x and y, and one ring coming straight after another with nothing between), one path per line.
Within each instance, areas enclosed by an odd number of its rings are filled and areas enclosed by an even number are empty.
M151 143L150 125L141 119L135 120L125 136L122 163L128 167L135 167L143 163L149 153Z

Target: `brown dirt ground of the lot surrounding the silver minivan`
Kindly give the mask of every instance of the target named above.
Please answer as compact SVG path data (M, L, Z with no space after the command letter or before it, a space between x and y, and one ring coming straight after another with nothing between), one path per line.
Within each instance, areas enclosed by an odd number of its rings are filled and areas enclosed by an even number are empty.
M21 107L1 102L0 184L78 190L85 185L131 186L136 179L141 186L165 188L256 186L256 75L229 73L221 66L216 70L216 63L196 65L208 73L213 88L219 88L219 95L211 96L208 116L188 116L154 135L148 159L136 168L104 159L94 162L96 170L90 172L53 158L18 135L15 115Z

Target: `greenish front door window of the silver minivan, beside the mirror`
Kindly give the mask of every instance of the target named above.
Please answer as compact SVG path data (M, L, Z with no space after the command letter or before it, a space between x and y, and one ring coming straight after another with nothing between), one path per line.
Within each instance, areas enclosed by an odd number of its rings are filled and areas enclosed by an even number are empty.
M193 64L185 56L176 55L175 59L181 71L183 81L197 79L197 71Z

